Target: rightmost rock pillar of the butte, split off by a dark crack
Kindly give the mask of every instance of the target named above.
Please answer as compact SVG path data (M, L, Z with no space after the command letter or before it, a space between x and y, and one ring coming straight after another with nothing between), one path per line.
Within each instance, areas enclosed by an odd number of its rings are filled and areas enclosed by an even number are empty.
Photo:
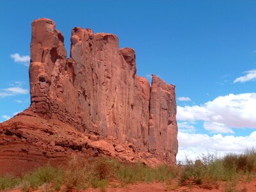
M149 152L164 152L168 159L177 154L175 86L152 76L150 92Z

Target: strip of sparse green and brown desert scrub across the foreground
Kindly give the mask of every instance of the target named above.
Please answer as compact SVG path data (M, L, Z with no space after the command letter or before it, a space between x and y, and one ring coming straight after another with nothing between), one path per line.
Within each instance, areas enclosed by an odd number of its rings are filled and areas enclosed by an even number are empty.
M164 182L167 190L180 186L198 186L204 189L237 191L238 182L250 182L255 179L255 173L255 150L239 155L228 154L223 158L208 154L195 162L187 160L185 165L162 165L157 168L150 168L143 163L121 163L108 157L95 157L73 159L65 167L56 168L47 164L20 177L3 175L0 177L0 189L103 190L108 186L121 188L138 182Z

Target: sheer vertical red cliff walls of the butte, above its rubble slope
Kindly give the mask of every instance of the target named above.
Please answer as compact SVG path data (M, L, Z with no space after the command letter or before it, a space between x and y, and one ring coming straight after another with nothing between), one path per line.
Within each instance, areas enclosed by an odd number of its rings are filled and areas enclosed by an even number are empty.
M152 76L150 90L147 79L136 75L135 51L119 49L118 38L113 34L72 29L67 59L63 35L52 20L37 19L31 26L31 106L26 113L6 122L4 129L0 126L4 138L8 136L6 127L16 130L15 121L23 122L22 118L27 120L28 114L33 114L35 122L39 116L49 125L58 120L81 133L130 143L133 150L175 163L175 86ZM62 147L63 151L58 152L65 153L67 146Z

